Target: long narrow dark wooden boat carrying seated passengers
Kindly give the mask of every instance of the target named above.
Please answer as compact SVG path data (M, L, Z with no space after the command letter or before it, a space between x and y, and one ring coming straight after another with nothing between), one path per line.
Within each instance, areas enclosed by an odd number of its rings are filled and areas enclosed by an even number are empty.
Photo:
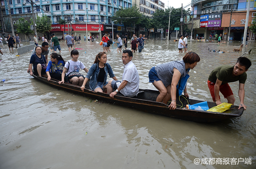
M178 118L181 120L188 120L194 122L215 122L225 120L228 118L239 117L243 114L244 111L243 108L238 109L238 106L231 106L229 110L226 110L223 113L207 112L203 110L191 110L184 108L170 110L168 108L168 105L156 102L156 98L159 95L159 91L155 90L140 89L139 93L135 97L125 97L117 94L115 98L112 99L109 94L91 91L89 87L89 82L87 82L84 92L82 92L80 86L76 86L69 83L59 84L58 80L56 79L51 79L50 81L48 81L47 77L44 75L42 77L33 75L33 77L41 82L44 82L46 84L66 91L75 92L80 95L91 97L97 100L106 101L108 103L119 104L124 107L141 110L143 112L158 114L166 117ZM203 102L201 100L185 99L184 97L179 98L180 99L177 99L177 105L182 105L183 107L186 107L187 103L192 105ZM209 108L216 106L215 103L207 103Z

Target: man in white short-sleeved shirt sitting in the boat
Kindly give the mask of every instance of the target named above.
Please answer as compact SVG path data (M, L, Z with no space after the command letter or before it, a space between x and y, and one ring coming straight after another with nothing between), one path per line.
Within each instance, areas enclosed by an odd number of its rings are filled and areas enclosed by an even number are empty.
M139 92L140 77L136 66L132 62L132 51L124 50L122 60L124 64L122 82L114 80L108 82L107 92L110 94L111 98L114 98L119 91L122 95L127 97L136 96Z

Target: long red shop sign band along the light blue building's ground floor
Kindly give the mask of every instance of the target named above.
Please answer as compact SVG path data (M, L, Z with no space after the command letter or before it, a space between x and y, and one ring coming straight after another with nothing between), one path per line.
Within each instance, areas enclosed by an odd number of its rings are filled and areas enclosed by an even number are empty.
M51 25L52 30L51 31L64 31L64 24L56 24ZM72 28L74 31L86 31L86 24L72 24ZM70 29L70 25L69 25ZM87 31L103 31L104 27L102 24L87 24ZM65 30L68 30L67 24L65 24Z

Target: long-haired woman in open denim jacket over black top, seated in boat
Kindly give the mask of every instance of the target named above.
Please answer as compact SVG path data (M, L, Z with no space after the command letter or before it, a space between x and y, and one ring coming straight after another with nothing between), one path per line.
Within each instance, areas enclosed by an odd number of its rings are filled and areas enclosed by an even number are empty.
M107 63L106 52L99 52L95 58L94 64L89 69L81 86L81 90L84 91L85 84L90 79L90 88L95 92L103 92L108 87L107 77L108 74L111 78L117 81L115 74L113 73L110 64ZM110 85L111 87L111 85ZM112 89L112 87L111 87Z

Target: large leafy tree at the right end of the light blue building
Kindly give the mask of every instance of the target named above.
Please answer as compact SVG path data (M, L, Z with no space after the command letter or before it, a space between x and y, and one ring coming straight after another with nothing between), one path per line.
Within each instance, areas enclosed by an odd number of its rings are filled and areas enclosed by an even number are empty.
M141 21L142 14L140 13L137 6L132 6L132 8L120 8L112 17L112 20L117 20L117 22L122 23L127 29L128 26L132 24L139 24Z

